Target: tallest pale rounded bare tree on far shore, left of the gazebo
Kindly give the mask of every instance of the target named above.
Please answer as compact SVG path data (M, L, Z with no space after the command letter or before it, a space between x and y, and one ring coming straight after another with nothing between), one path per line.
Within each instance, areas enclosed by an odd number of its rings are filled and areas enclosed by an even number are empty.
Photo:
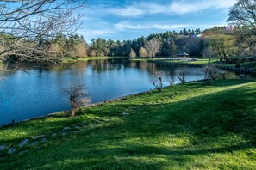
M160 47L161 47L161 42L157 39L151 39L151 40L147 41L146 45L145 45L147 54L152 59L159 52Z

